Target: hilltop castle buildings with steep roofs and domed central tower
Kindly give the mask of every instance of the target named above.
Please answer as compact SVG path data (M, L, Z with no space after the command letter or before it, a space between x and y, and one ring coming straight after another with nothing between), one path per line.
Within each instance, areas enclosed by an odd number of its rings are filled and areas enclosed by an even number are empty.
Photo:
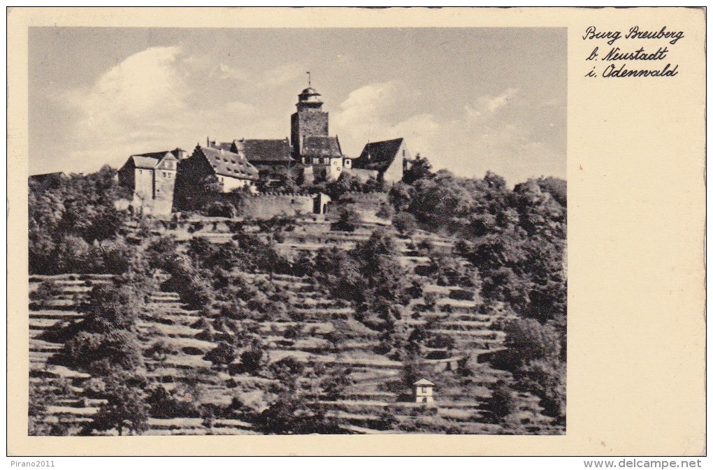
M180 185L215 177L222 192L237 189L256 192L261 178L284 169L305 184L339 179L349 173L366 182L401 180L411 160L403 138L369 142L359 157L342 153L337 135L329 135L329 113L317 90L305 88L297 95L297 112L290 119L290 138L207 139L189 156L185 150L165 150L131 155L118 171L119 183L134 193L133 204L151 214L170 214ZM368 117L367 117L368 118ZM315 207L322 207L315 204Z

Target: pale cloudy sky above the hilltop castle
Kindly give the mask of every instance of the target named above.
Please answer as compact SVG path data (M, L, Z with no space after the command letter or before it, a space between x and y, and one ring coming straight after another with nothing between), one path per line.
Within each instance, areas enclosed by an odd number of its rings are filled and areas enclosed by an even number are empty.
M566 175L564 28L30 28L29 172L289 137L307 71L346 155L404 137L461 176Z

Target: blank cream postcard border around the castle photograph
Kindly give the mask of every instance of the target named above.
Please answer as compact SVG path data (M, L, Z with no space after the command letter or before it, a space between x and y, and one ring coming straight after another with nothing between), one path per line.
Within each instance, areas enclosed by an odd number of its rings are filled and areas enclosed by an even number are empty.
M11 8L7 15L9 455L705 453L703 9ZM566 435L28 437L28 28L235 25L568 28ZM678 75L585 78L595 44L583 34L593 25L684 31L672 47Z

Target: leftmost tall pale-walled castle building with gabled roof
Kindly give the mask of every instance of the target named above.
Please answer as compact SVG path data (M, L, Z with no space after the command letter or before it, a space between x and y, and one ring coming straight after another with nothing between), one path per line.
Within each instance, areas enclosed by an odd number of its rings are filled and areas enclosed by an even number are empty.
M151 214L170 214L178 162L185 150L131 155L118 170L119 184L133 191L134 205Z

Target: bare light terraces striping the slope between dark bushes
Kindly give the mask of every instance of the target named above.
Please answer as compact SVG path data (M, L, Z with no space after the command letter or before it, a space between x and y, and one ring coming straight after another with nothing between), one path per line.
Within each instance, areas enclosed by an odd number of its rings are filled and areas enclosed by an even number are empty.
M309 217L300 221L294 231L283 234L278 245L285 254L299 254L321 246L336 245L351 249L369 237L376 224L366 224L352 233L329 230L324 219ZM190 236L207 236L214 243L224 243L232 233L225 224L202 224L188 234L185 229L168 229L179 240ZM436 406L411 403L404 396L402 380L404 362L376 352L381 332L371 330L355 319L354 308L331 298L311 278L267 273L234 273L252 283L270 282L279 286L287 298L287 318L262 321L235 319L227 321L205 317L184 305L178 293L155 291L146 299L135 325L143 350L145 374L153 385L160 385L187 404L202 409L232 409L235 403L260 412L267 406L271 387L276 384L270 374L245 372L240 369L240 355L259 341L265 348L263 370L284 357L294 357L305 365L304 387L317 382L315 377L342 374L349 385L336 396L321 396L319 402L327 416L337 420L344 432L380 434L392 432L458 432L463 434L501 434L508 432L493 419L483 404L491 397L498 380L508 380L509 373L478 362L478 356L503 348L501 331L506 315L498 310L483 311L477 293L473 300L458 300L454 291L468 290L458 285L436 285L428 276L419 276L428 257L414 250L427 240L439 249L452 249L453 239L418 231L408 239L397 238L402 266L414 272L424 293L433 293L436 305L426 305L423 298L412 301L397 320L399 327L411 330L425 328L434 335L451 338L451 348L432 348L424 363L432 370L436 382ZM466 261L462 261L465 263ZM108 276L43 276L31 279L35 290L41 283L51 283L51 296L36 302L30 310L31 382L53 392L57 399L48 405L42 417L46 424L61 424L69 434L76 434L91 419L101 400L87 397L91 376L66 367L48 365L51 355L61 348L45 334L57 325L78 320L76 305L97 283ZM472 289L471 289L472 290ZM339 340L335 340L335 335ZM221 341L242 345L235 351L232 364L215 366L205 359ZM251 343L252 342L252 343ZM471 373L458 372L468 366ZM319 379L322 380L322 379ZM324 392L315 392L324 393ZM529 394L518 397L518 412L513 429L535 434L561 434L560 427L545 417L539 399ZM235 409L229 418L205 416L151 417L145 434L255 434L250 414Z

